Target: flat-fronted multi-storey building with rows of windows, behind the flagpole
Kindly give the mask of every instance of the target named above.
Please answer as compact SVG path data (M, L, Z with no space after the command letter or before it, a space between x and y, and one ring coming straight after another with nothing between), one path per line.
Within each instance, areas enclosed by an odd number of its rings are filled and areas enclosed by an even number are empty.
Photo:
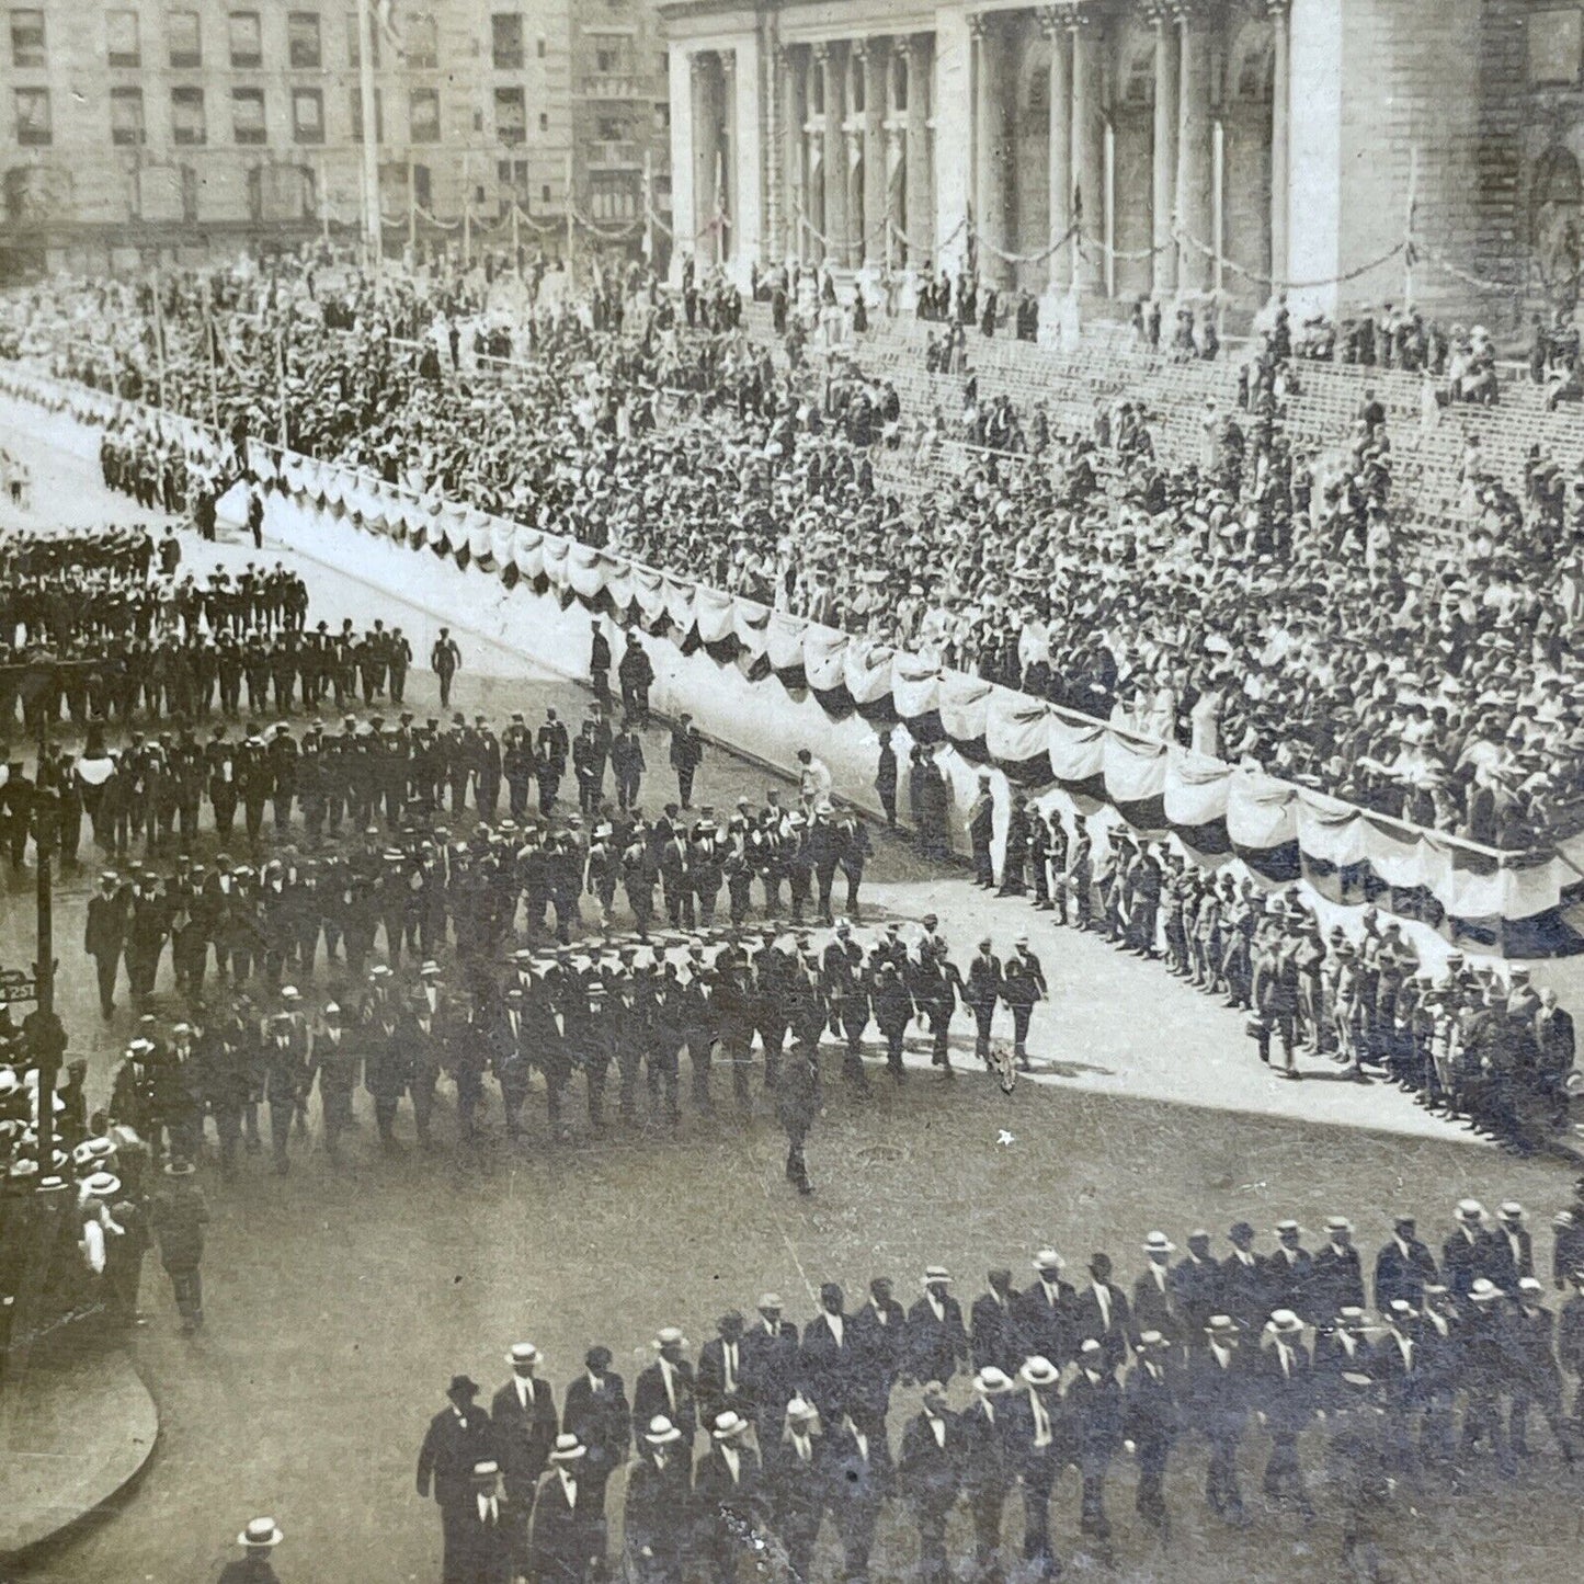
M515 8L512 8L515 6ZM0 271L295 241L361 219L356 0L35 0L0 25ZM556 249L573 208L668 203L665 57L648 0L432 0L375 33L380 206L406 238L516 204ZM488 233L501 241L502 230ZM483 231L474 231L475 238Z

